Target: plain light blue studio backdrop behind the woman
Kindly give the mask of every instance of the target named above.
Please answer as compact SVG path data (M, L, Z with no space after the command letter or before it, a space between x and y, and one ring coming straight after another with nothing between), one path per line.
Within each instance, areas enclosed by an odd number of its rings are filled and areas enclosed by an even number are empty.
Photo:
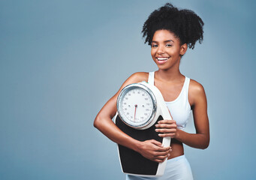
M124 179L92 124L127 77L157 70L140 31L165 2L0 1L0 179ZM205 23L181 63L209 105L209 148L185 146L194 178L255 179L255 3L173 5Z

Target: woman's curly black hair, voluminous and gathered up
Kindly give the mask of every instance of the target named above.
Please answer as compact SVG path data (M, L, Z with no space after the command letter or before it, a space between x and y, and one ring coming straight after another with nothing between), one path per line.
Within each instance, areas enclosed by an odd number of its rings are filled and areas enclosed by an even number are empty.
M194 49L194 44L203 40L203 20L192 10L179 10L170 3L154 10L143 25L143 37L145 43L151 46L155 31L165 29L173 32L179 37L181 44L187 43L188 47Z

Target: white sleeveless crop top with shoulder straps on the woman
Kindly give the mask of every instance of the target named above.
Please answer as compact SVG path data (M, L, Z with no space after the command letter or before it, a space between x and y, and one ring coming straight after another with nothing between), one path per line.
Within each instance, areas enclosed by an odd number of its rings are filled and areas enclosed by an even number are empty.
M154 85L155 72L149 73L148 83ZM191 107L188 102L188 86L190 79L185 77L185 82L182 91L179 93L178 98L174 101L165 101L173 120L176 121L177 127L181 130L185 129L188 119L191 114Z

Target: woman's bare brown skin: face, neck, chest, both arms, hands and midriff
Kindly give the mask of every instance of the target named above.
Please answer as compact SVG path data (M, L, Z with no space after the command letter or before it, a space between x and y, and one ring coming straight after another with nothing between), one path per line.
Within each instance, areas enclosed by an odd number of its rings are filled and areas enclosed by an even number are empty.
M181 44L179 38L168 30L155 31L152 37L152 59L158 65L158 71L155 71L155 86L160 90L164 101L173 101L182 90L185 76L179 71L179 64L182 55L185 54L188 46ZM158 62L158 58L167 58L166 62ZM207 102L203 86L194 80L190 81L188 88L188 101L193 110L194 126L196 133L186 133L179 130L175 119L164 119L158 121L156 132L159 136L170 136L172 138L170 147L163 147L161 142L154 139L140 142L123 133L112 118L116 114L116 99L121 90L131 84L147 81L148 73L139 72L132 74L125 80L116 95L102 107L95 118L94 126L98 128L105 136L121 145L125 145L134 151L139 152L143 157L155 162L163 162L168 159L184 154L182 143L193 148L207 148L209 145L209 120L207 115Z

